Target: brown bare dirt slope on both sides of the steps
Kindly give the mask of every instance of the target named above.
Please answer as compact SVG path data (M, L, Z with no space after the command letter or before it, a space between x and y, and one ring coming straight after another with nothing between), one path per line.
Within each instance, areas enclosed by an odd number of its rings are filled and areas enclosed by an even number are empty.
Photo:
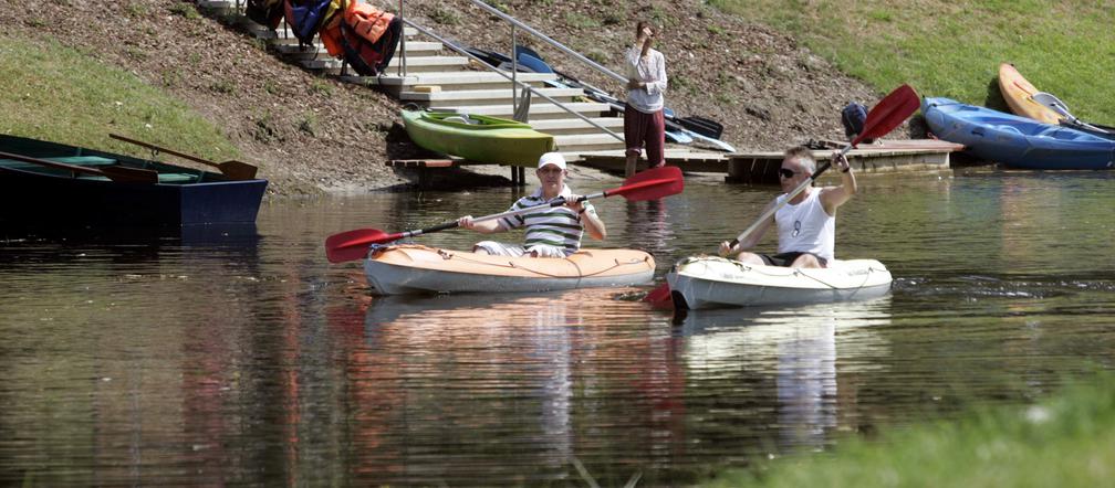
M9 0L0 9L0 25L11 36L55 39L90 52L180 97L260 165L273 193L375 191L413 177L382 164L416 152L396 125L395 99L285 64L260 41L193 16L182 3ZM723 123L724 139L738 149L780 150L809 138L840 138L840 108L850 100L870 105L880 96L793 38L700 1L496 4L613 69L637 19L661 26L656 48L667 58L667 105L679 116ZM508 26L467 1L406 6L411 19L439 33L510 50ZM562 71L620 92L618 84L521 30L518 40ZM905 137L902 130L892 137Z

